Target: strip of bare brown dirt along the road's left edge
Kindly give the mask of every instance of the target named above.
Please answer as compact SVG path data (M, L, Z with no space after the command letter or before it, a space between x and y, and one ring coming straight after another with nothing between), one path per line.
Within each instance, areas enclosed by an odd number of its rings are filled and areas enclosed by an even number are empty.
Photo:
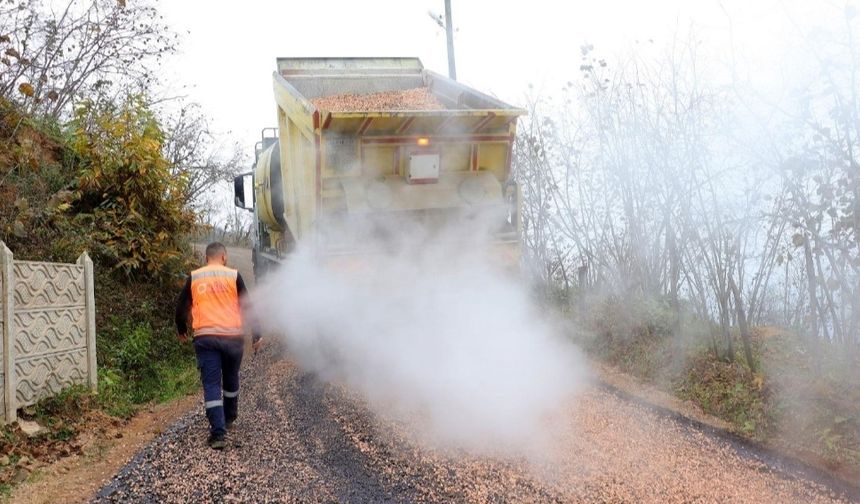
M194 408L199 400L195 394L154 405L125 424L82 434L78 440L80 454L37 469L4 501L22 504L89 501L135 453Z

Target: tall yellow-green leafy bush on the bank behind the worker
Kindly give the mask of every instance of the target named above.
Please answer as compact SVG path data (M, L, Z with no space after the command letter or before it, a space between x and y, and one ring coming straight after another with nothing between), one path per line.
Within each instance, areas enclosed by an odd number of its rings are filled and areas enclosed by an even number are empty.
M79 157L75 224L99 245L94 252L129 276L167 278L182 269L194 214L183 206L186 180L171 173L164 134L142 97L84 102L70 131Z

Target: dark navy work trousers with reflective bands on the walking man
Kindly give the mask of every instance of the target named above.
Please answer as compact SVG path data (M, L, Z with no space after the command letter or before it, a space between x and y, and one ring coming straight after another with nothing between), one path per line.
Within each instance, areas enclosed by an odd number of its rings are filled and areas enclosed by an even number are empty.
M194 338L197 367L203 382L203 401L212 434L224 434L239 409L239 366L243 338L200 336ZM223 390L223 399L222 399Z

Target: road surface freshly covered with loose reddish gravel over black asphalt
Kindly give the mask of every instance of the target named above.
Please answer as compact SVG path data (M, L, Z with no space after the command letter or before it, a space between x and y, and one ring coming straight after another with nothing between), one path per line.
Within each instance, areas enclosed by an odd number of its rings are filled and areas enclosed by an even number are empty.
M226 450L206 446L201 407L93 502L850 502L597 386L571 404L553 456L525 460L427 448L277 344L242 373Z

